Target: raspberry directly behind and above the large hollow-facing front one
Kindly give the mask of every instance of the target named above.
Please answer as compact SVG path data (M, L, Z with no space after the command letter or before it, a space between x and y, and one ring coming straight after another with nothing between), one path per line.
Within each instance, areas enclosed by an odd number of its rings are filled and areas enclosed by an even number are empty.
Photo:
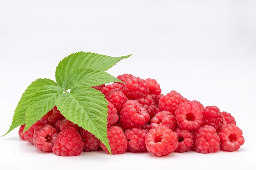
M176 128L176 118L169 111L159 111L155 114L155 116L150 120L150 128L157 126L158 124L162 124L174 130Z

